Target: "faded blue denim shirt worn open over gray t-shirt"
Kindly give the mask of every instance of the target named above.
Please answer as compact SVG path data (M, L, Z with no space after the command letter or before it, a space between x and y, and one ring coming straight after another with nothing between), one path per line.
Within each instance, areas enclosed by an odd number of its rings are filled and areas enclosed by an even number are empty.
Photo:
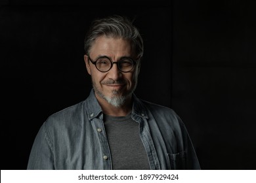
M133 94L131 117L139 123L150 169L200 169L186 127L171 108ZM85 101L56 112L43 123L27 169L112 169L102 108L93 90Z

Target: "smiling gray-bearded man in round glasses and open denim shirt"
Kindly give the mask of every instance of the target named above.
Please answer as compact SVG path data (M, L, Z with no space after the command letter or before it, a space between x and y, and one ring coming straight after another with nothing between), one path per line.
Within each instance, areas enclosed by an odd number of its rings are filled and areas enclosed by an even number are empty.
M200 169L179 116L135 96L142 54L127 18L91 24L84 59L93 89L42 125L28 169Z

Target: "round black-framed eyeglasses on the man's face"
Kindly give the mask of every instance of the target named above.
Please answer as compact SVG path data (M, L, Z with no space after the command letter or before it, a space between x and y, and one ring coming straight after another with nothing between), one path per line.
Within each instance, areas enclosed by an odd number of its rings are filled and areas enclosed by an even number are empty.
M102 56L96 59L96 61L93 61L90 58L90 56L88 56L88 58L91 61L91 63L95 65L96 69L98 69L98 71L102 73L106 73L110 71L114 63L117 64L117 68L119 69L119 71L123 73L128 73L133 69L133 67L136 64L136 61L134 61L132 58L129 58L129 57L122 57L121 59L119 59L119 61L112 61L107 56Z

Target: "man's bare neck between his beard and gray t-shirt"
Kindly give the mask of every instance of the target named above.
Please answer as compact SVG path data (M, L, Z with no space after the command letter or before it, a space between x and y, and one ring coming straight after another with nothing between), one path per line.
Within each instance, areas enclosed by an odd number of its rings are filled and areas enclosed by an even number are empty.
M96 99L98 100L98 103L100 104L103 113L108 116L127 116L133 108L132 97L127 97L125 103L120 107L115 107L114 105L111 105L97 94Z

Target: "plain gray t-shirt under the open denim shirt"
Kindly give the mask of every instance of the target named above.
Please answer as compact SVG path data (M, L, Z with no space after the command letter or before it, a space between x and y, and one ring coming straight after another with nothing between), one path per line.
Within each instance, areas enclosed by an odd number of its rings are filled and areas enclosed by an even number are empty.
M131 118L131 114L123 117L104 115L104 126L113 169L150 169L139 135L139 123Z

